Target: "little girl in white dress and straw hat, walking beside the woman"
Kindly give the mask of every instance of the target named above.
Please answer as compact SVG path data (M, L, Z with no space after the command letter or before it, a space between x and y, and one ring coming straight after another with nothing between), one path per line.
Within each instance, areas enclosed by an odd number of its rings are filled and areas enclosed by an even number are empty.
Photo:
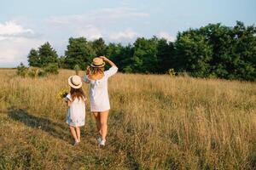
M85 122L85 96L82 90L82 80L79 76L71 76L68 78L70 93L67 94L67 124L70 127L70 132L75 140L74 145L79 144L80 127L84 126Z

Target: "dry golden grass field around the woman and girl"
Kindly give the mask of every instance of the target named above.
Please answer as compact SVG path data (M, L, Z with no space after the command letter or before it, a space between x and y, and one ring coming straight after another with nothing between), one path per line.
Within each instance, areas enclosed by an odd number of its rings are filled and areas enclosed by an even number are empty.
M0 70L0 169L256 168L255 83L119 73L108 82L102 150L88 102L82 142L72 145L67 106L55 95L73 73Z

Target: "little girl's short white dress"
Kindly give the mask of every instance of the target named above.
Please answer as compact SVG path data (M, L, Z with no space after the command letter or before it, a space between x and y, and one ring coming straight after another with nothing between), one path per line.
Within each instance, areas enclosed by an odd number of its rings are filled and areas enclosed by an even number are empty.
M71 95L67 94L65 100L70 100ZM67 110L67 124L73 127L82 127L85 122L85 99L74 99Z

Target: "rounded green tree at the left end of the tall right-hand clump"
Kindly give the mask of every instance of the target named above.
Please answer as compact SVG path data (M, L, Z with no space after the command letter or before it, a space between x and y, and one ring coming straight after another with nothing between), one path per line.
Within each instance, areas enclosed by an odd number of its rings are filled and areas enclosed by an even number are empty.
M177 71L189 71L195 77L207 77L209 75L212 47L199 30L179 32L175 48L175 68Z

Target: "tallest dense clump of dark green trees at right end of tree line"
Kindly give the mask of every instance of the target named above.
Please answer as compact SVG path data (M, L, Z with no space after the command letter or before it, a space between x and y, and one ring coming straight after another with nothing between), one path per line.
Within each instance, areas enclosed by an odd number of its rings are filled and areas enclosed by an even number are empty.
M221 77L255 81L256 28L209 24L178 33L175 67L195 77Z

